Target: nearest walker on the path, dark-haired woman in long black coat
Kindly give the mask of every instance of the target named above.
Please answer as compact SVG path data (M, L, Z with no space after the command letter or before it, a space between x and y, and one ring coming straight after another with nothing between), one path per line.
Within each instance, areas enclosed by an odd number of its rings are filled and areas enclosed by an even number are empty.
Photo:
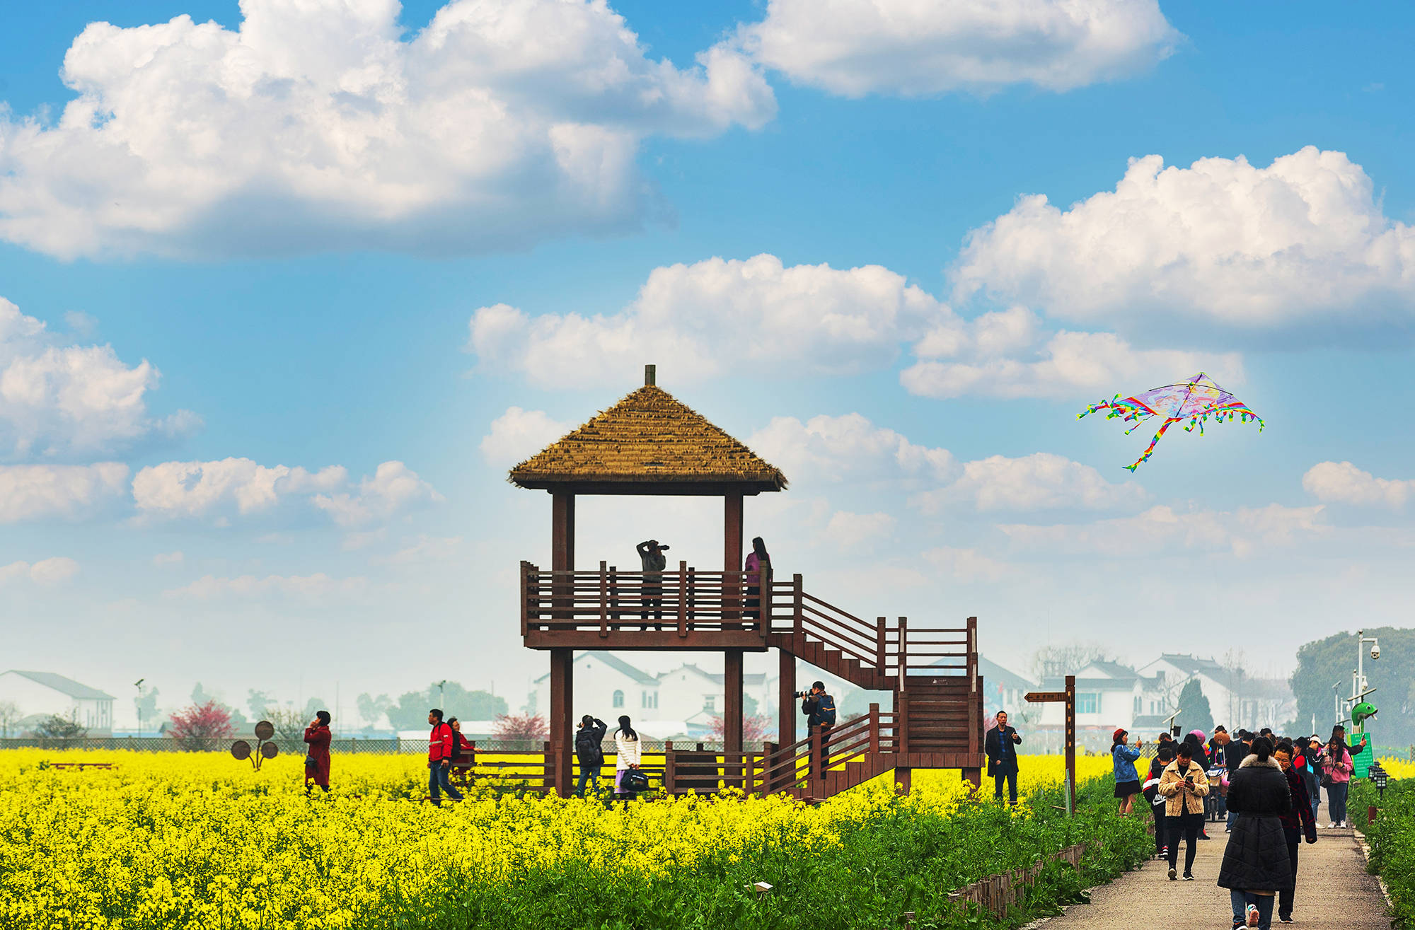
M1228 834L1218 886L1230 890L1235 927L1268 930L1274 896L1292 888L1292 862L1281 820L1292 810L1292 793L1266 738L1252 741L1251 755L1228 782L1228 810L1238 818Z

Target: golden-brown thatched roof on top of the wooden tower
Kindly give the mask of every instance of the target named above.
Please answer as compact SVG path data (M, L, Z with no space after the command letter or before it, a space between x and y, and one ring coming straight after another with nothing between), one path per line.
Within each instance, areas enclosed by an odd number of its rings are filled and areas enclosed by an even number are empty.
M781 490L785 475L652 384L511 469L521 488L583 493Z

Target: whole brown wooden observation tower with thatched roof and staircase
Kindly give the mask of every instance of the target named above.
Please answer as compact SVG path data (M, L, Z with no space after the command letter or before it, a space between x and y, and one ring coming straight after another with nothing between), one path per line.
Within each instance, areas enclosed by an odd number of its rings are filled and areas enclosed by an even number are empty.
M550 570L521 563L521 636L528 649L550 653L546 782L553 780L560 794L573 787L579 714L570 698L577 649L723 653L723 752L669 748L664 770L669 791L724 782L749 791L821 799L890 769L907 787L916 767L961 769L964 777L981 779L976 618L955 629L911 629L906 618L865 620L808 594L801 575L768 582L743 571L743 499L784 490L787 479L659 389L652 365L644 369L642 387L516 465L509 478L552 499ZM603 561L597 570L577 570L579 495L722 498L722 571L682 561L662 572L618 571ZM645 601L652 601L648 622ZM743 654L768 649L780 659L778 742L746 752ZM819 736L798 742L797 659L857 687L891 691L893 711L872 705L869 715L849 722L842 715L825 746Z

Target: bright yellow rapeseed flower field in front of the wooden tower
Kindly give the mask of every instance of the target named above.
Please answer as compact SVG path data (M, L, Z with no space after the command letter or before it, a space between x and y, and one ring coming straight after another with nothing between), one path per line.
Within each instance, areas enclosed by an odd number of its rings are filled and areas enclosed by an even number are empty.
M57 770L45 759L117 767ZM1060 756L1020 762L1023 793L1061 777ZM1109 772L1104 756L1078 765L1082 780ZM607 807L484 791L436 808L422 801L417 756L337 755L328 796L307 799L301 776L297 756L253 772L222 753L6 751L0 926L351 927L391 899L446 895L449 865L463 881L514 888L566 861L652 875L708 852L838 845L893 787L877 779L816 807L740 796ZM916 772L906 804L947 816L968 787L957 772Z

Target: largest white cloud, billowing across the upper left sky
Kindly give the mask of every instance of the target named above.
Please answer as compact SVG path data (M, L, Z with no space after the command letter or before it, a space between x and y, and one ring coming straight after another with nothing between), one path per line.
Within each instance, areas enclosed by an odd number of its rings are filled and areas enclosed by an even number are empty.
M59 120L0 113L0 239L61 257L467 253L637 226L648 136L775 113L722 45L645 57L603 0L242 0L238 30L89 24Z

